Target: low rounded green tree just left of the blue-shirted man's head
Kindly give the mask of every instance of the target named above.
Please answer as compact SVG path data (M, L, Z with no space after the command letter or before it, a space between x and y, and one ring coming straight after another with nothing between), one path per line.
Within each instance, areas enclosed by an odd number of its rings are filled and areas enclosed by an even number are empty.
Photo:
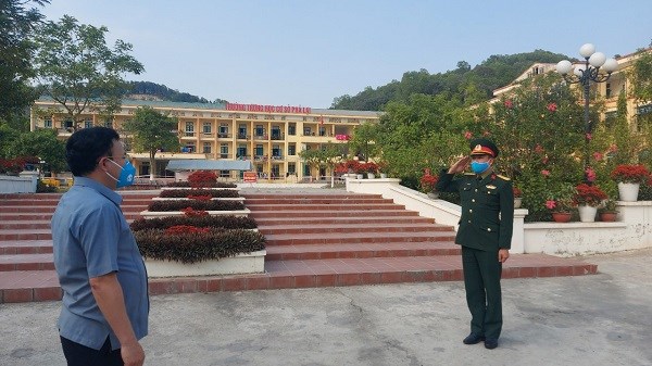
M53 129L38 129L21 134L9 147L9 156L36 156L45 161L45 168L59 173L67 168L65 143Z

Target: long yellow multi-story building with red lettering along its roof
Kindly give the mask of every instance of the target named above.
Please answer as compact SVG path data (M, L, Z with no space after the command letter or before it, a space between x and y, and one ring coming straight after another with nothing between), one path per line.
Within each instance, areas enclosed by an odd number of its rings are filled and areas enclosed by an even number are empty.
M130 150L129 137L123 124L134 117L139 106L176 116L180 151L161 151L155 155L154 175L173 176L166 171L173 160L249 160L263 178L287 181L329 176L325 167L311 168L299 156L306 149L323 144L346 143L355 127L364 123L378 123L378 112L317 110L301 106L260 104L201 104L163 101L124 100L122 110L110 118L92 111L80 116L80 128L106 126L115 128ZM39 111L37 113L37 111ZM42 111L48 112L43 115ZM30 128L52 128L61 138L74 130L74 122L52 100L41 98L33 108ZM149 154L129 151L138 175L149 175ZM225 178L238 179L238 172L221 172Z

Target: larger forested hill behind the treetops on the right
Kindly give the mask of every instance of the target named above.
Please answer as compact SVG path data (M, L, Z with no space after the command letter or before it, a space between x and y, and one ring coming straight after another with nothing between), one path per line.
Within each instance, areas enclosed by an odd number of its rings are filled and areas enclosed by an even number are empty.
M413 93L439 94L447 92L451 98L472 104L490 99L492 91L512 83L529 66L537 62L556 63L570 60L567 55L543 50L511 55L494 54L471 68L465 61L457 68L446 73L429 74L427 70L406 72L400 81L378 88L367 87L351 97L335 98L331 109L353 111L381 111L389 101L405 101Z

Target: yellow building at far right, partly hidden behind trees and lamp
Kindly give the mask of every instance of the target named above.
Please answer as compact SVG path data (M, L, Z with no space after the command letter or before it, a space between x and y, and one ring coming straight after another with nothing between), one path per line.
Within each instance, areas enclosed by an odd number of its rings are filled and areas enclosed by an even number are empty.
M604 102L604 109L601 112L600 119L605 121L615 118L618 104L618 96L625 92L627 97L627 118L630 126L637 130L641 130L642 116L652 113L652 101L640 102L631 96L631 81L628 78L628 73L634 67L636 60L644 52L652 52L652 49L638 51L624 56L616 56L618 68L612 73L609 80L604 83L591 83L590 103L595 101ZM517 88L524 79L536 75L555 72L556 64L536 63L518 76L510 85L493 90L493 99L491 102L499 101L505 94L509 94L514 88ZM584 62L575 63L575 67L584 67ZM577 84L575 86L578 86Z

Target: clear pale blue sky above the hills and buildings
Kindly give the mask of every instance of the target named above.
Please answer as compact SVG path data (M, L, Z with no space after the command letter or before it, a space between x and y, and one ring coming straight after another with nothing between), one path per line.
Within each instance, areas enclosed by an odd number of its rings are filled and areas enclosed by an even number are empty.
M459 61L537 49L579 58L587 42L614 56L652 42L650 0L51 0L40 11L131 43L145 73L128 80L313 109Z

